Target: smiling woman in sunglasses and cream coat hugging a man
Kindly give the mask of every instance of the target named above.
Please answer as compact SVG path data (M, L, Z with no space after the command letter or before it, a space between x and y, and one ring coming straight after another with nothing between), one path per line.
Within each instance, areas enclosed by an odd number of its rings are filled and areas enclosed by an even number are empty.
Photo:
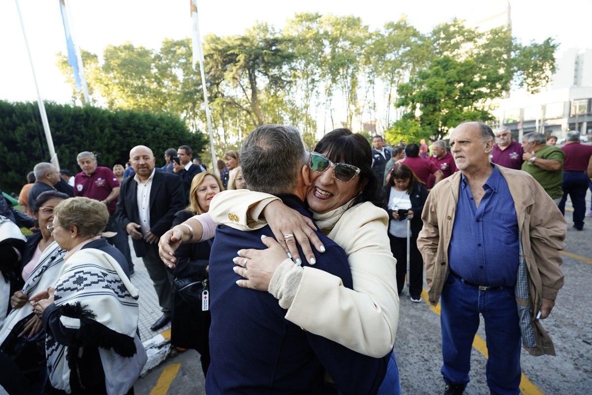
M293 272L290 269L294 264L286 259L286 251L272 237L262 239L268 249L242 250L241 258L234 261L239 265L248 259L249 278L238 284L274 294L280 306L287 309L287 320L361 354L379 358L392 350L399 299L396 263L387 237L387 214L382 208L382 191L371 163L370 144L361 134L349 129L327 133L310 157L311 187L306 201L317 226L348 255L353 290L343 287L339 278L314 266L307 266L296 278L288 279L286 275ZM265 226L262 220L265 216L276 238L289 246L298 263L295 241L301 242L312 233L300 214L285 207L273 195L241 190L230 194L223 192L217 198L223 196L226 196L224 204L218 199L210 208L211 219L249 230ZM222 210L222 205L233 207L238 221L229 221L228 211ZM202 216L199 219L204 220ZM196 223L186 222L193 225L193 237L187 227L175 228L179 234L183 233L184 242L200 239L204 229L204 233L211 233L210 224L195 226ZM160 240L159 253L169 265L174 258L165 251L171 247L166 237L170 239L175 229ZM204 234L205 238L207 236ZM311 241L318 251L323 250L318 239ZM314 255L305 255L308 262L314 264ZM236 268L239 275L244 274L242 266Z

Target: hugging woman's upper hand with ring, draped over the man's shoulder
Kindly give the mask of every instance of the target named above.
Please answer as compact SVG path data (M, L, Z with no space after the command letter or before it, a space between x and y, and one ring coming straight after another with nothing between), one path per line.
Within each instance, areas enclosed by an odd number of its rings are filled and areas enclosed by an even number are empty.
M300 244L306 260L311 265L316 264L316 259L314 259L310 243L313 243L318 252L325 252L321 240L314 233L317 228L310 218L288 208L279 200L274 200L266 205L263 215L274 232L275 238L284 248L284 255L289 253L288 257L294 259L297 264L300 264L301 261L296 243Z

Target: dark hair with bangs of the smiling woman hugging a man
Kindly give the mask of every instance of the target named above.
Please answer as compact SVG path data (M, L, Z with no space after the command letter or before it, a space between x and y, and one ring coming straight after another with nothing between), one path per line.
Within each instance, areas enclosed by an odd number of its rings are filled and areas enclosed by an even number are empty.
M353 200L352 206L369 201L382 207L381 184L372 171L372 147L364 136L345 128L335 129L325 134L314 147L314 151L327 156L332 162L348 163L360 169L358 182L367 182L362 193Z

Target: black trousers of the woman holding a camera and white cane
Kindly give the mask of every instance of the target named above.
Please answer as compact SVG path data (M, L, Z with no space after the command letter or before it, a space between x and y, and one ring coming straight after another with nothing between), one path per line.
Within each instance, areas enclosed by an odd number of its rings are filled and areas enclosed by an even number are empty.
M389 233L388 239L392 256L397 259L397 291L401 294L407 274L407 237L395 237ZM409 252L409 295L417 299L423 288L423 259L417 249L417 236L411 236Z

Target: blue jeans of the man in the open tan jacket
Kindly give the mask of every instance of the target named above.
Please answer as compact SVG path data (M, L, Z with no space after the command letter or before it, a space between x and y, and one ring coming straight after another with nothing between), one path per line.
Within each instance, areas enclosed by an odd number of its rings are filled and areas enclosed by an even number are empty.
M442 375L448 384L465 386L471 370L471 349L485 320L489 357L487 385L491 394L520 394L520 327L514 288L480 290L453 275L442 289Z

